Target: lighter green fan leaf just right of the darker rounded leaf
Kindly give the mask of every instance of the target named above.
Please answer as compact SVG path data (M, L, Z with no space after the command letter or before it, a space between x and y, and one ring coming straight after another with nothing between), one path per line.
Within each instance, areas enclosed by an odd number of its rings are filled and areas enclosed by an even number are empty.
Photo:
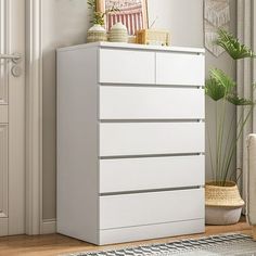
M233 81L232 78L225 74L221 69L212 68L209 71L209 76L225 88L225 94L230 93L236 87L235 81Z

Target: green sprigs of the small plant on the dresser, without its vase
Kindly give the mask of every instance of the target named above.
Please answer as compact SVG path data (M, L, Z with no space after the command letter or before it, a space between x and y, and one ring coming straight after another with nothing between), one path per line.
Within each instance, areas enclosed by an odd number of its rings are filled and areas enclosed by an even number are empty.
M113 5L111 9L106 10L105 12L100 12L98 9L97 2L98 2L97 0L87 0L88 8L92 10L92 17L90 20L90 23L94 25L98 24L98 25L104 26L105 16L108 13L119 11L119 9Z

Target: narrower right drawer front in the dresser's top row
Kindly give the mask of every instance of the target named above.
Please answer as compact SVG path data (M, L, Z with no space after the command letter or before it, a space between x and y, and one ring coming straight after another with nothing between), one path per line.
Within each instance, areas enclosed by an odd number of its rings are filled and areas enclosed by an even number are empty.
M156 84L203 86L204 55L156 53Z

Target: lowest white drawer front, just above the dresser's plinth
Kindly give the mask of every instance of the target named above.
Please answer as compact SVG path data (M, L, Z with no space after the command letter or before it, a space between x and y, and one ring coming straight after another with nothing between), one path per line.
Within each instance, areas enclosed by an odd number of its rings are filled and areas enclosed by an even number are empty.
M100 229L204 218L204 189L100 197Z

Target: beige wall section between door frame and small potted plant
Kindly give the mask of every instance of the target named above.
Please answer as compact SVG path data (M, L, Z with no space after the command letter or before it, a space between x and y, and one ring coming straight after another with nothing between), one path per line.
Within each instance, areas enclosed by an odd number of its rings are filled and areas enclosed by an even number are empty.
M43 219L53 219L56 216L55 49L84 43L90 26L89 18L86 0L42 1Z

